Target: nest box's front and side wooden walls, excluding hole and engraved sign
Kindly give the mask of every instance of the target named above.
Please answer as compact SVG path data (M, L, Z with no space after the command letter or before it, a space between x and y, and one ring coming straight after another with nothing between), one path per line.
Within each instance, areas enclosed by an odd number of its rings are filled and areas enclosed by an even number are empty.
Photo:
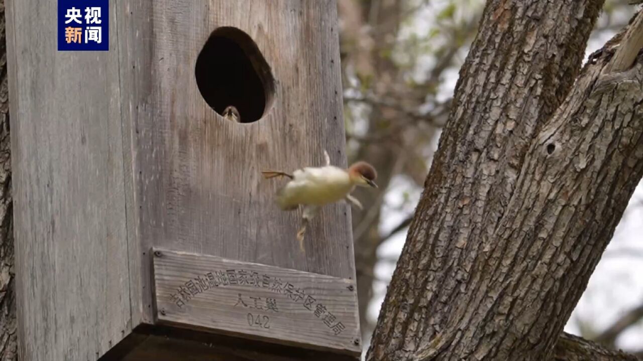
M51 36L55 2L8 1L23 359L90 360L152 324L150 247L354 279L349 206L321 211L304 254L300 213L278 211L282 183L260 177L323 150L345 166L335 1L110 7L111 50L70 53ZM224 122L197 89L219 26L248 33L271 67L256 123Z

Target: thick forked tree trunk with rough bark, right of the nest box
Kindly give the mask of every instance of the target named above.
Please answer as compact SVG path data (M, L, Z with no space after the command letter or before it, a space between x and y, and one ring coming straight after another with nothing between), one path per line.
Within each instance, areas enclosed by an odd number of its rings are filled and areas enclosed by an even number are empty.
M643 175L643 55L579 74L602 2L487 2L367 360L634 359L560 337Z

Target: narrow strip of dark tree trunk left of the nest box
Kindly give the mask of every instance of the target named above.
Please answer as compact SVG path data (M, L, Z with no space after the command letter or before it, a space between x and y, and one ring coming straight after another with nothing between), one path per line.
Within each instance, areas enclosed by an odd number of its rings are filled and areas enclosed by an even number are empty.
M5 3L0 4L0 360L17 360L14 230L6 77Z

